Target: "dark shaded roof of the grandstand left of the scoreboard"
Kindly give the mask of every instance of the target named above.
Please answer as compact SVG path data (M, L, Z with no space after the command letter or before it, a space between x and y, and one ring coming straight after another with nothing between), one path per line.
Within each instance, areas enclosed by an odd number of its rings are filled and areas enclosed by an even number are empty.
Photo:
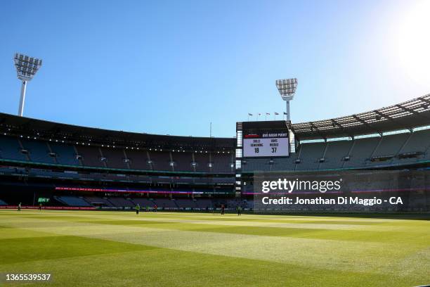
M113 131L109 129L96 129L66 125L46 120L36 120L29 117L18 117L0 113L0 132L3 134L25 135L38 139L58 139L65 141L79 141L93 144L110 143L116 146L136 146L155 148L235 148L233 138L170 136L159 134L141 134L136 132Z

